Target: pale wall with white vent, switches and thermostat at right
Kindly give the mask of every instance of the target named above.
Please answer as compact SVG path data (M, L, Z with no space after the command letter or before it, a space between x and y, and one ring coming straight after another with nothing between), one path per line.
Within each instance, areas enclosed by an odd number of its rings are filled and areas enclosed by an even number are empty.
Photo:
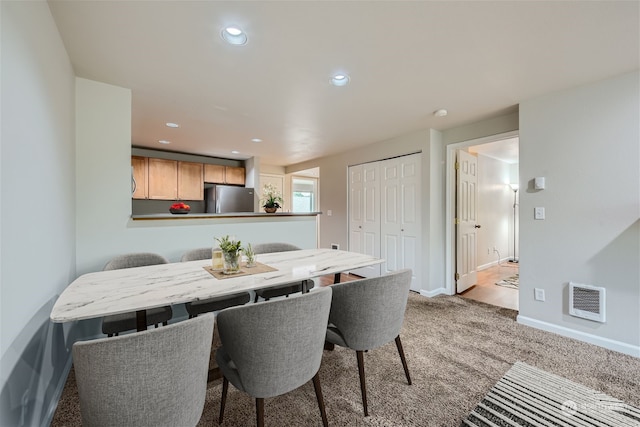
M520 105L519 321L636 356L639 81L636 71ZM532 189L536 176L545 190ZM546 220L533 219L536 206ZM607 288L606 323L569 316L569 281Z

